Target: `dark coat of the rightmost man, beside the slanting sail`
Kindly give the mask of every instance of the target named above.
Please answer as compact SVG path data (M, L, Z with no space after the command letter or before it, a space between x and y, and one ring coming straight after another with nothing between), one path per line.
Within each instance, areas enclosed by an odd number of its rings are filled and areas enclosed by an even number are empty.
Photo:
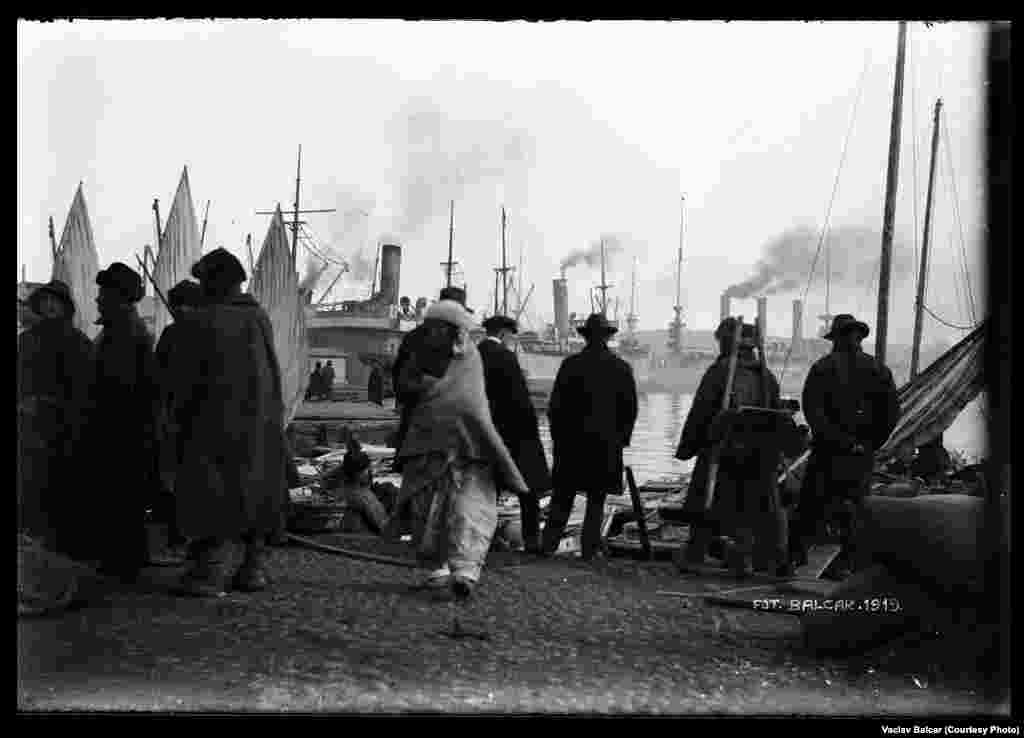
M899 395L892 372L863 351L833 351L808 372L803 408L812 434L805 493L865 494L872 454L899 422ZM845 451L854 443L862 444L867 452L862 464L851 467ZM840 464L839 457L846 463ZM859 479L850 478L851 469L860 470Z

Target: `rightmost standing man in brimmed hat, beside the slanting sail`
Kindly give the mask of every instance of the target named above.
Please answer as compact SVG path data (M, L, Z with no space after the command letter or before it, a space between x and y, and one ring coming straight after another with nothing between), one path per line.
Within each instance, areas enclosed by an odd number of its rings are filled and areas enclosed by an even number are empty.
M845 510L842 536L850 563L856 510L869 491L874 451L899 421L892 372L861 348L869 331L853 315L837 315L824 336L831 353L814 362L804 383L812 442L791 540L798 564L806 561L807 546L834 502Z

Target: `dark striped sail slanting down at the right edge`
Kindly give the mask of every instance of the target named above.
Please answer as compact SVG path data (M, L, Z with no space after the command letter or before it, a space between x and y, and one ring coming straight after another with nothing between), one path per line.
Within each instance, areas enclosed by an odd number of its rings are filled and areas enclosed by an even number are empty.
M909 454L934 440L984 388L985 327L937 358L899 390L900 419L876 460Z

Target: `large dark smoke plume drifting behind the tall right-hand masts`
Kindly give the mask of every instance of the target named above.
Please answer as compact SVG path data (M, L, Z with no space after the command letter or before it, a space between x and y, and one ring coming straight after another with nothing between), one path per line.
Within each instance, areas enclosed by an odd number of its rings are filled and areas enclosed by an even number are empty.
M754 273L726 290L731 298L746 299L794 292L807 285L818 251L820 233L813 228L791 228L768 242ZM827 265L834 287L863 288L878 279L882 235L877 230L843 226L828 232L814 267L814 283L823 281ZM904 242L893 240L892 280L904 279L912 270L913 253Z

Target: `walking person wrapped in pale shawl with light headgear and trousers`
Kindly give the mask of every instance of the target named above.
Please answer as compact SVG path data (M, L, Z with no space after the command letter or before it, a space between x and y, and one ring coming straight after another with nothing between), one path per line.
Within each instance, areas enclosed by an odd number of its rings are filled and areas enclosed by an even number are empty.
M455 300L427 310L423 333L402 362L396 389L413 397L397 457L396 510L414 502L414 541L427 584L468 597L480 578L498 524L497 487L528 491L487 403L483 363L469 339L469 311Z

